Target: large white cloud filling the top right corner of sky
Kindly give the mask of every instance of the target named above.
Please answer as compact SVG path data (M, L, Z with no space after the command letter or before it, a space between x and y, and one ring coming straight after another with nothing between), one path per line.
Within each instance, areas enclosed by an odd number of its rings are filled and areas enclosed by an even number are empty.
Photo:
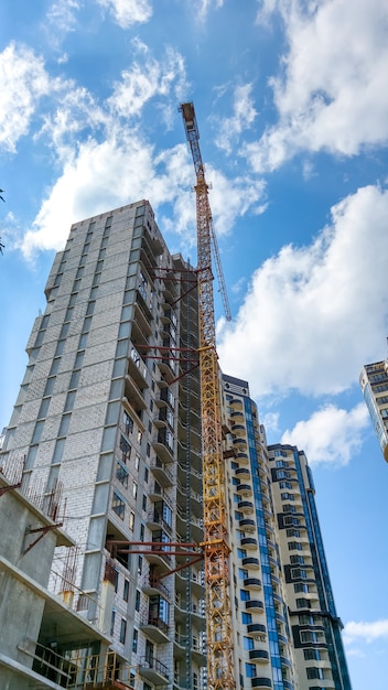
M289 53L274 77L276 126L247 144L252 169L271 171L299 151L357 154L388 141L387 13L381 0L266 2L282 12ZM341 31L338 31L341 26Z

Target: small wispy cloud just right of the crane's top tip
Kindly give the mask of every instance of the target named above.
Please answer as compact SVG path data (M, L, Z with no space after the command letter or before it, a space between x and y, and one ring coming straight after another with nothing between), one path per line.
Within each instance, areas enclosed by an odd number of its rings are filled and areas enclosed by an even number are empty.
M235 88L233 110L231 117L218 122L219 133L215 139L216 145L227 153L231 152L231 141L235 141L245 129L249 129L257 116L251 84Z

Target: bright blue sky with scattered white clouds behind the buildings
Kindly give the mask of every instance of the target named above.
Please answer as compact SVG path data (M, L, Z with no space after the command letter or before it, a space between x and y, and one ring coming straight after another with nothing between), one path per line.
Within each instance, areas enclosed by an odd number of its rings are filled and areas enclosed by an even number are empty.
M148 198L195 263L194 100L234 315L224 371L304 449L354 690L386 690L388 467L358 388L387 356L384 0L0 7L0 427L69 225Z

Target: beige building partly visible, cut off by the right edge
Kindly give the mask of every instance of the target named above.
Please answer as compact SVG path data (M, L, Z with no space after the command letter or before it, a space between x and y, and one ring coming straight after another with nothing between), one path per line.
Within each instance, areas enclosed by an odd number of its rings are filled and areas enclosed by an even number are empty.
M366 364L359 376L359 385L382 455L388 462L388 359Z

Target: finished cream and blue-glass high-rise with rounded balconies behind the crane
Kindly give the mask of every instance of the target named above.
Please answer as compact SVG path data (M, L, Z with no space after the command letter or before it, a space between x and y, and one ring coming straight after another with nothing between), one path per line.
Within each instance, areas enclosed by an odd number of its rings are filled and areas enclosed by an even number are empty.
M247 381L223 387L237 687L351 690L306 457L267 445Z

